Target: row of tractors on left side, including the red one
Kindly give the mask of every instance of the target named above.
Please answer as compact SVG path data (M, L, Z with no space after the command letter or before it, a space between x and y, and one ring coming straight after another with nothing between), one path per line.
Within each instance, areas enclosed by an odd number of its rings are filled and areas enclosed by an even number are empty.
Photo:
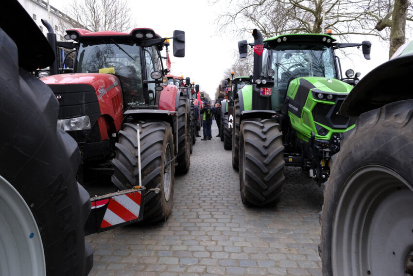
M93 252L85 235L166 221L174 175L189 170L199 85L167 74L169 40L184 57L185 32L69 29L67 41L57 41L42 20L46 40L17 0L5 5L0 274L87 275ZM72 69L58 68L61 48L74 55ZM111 176L115 192L86 191L95 175Z

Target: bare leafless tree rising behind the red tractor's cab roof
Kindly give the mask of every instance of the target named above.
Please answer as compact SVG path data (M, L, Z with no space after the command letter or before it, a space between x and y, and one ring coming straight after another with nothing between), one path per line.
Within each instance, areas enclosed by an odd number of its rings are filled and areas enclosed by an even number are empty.
M73 0L69 3L67 13L93 32L124 32L131 27L127 0Z

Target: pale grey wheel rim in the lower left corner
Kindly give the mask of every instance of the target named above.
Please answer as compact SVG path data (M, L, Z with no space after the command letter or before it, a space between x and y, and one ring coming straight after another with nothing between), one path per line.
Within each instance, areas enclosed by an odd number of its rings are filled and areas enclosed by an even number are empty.
M42 239L32 212L1 176L0 275L46 275Z

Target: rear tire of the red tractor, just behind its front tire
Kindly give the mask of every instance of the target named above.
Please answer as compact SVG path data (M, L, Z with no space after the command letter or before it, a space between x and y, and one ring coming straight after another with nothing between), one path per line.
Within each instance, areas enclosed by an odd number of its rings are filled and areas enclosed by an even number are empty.
M189 170L190 162L190 114L188 107L188 100L186 97L181 96L179 98L178 107L178 154L176 162L178 165L175 167L177 174L187 173Z

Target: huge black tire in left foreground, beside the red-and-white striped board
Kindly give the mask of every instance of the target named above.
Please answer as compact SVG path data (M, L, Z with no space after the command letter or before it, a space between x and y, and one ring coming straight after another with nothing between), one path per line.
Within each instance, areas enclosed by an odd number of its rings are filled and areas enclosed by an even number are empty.
M19 71L16 44L1 29L0 37L0 175L30 206L47 275L86 276L93 252L84 235L90 198L76 182L79 149L57 128L59 104L52 90Z

